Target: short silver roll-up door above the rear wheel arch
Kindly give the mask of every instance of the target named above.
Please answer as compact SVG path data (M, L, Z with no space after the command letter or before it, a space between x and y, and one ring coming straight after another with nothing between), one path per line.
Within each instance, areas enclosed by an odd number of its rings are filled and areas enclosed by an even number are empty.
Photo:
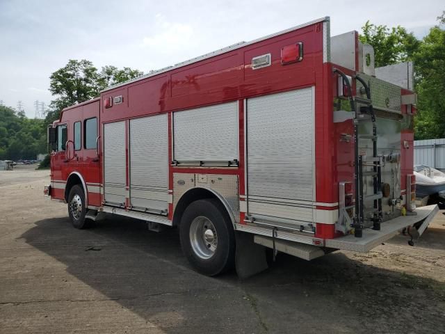
M175 160L239 160L238 102L179 111L173 116Z

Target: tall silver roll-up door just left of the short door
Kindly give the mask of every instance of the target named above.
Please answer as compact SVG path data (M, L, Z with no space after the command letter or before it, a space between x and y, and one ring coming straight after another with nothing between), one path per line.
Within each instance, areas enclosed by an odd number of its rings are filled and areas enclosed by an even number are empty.
M130 201L139 209L168 209L167 114L130 120Z

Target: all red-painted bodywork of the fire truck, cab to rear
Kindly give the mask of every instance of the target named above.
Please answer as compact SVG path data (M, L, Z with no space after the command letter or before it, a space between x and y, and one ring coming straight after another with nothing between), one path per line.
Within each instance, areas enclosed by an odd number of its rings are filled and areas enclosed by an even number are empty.
M302 42L302 61L282 65L281 49L286 45ZM270 54L271 64L267 67L252 69L252 58ZM356 45L358 54L358 44ZM357 59L358 62L358 59ZM356 64L358 66L358 63ZM298 88L314 87L314 127L315 143L315 201L317 209L338 209L339 182L353 182L354 177L354 144L351 141L340 141L341 134L353 136L353 122L333 122L333 100L337 95L337 74L332 72L337 67L347 75L353 71L323 63L323 24L316 23L282 35L254 42L224 54L197 61L183 67L129 82L103 92L99 99L65 109L60 122L68 125L68 138L73 137L73 123L90 117L98 117L98 134L102 136L102 127L106 122L126 120L127 141L127 180L129 189L129 134L128 122L138 118L159 113L168 113L168 189L174 189L173 173L223 174L238 175L239 194L245 195L245 129L244 101L250 97L278 93ZM353 84L353 92L355 84ZM122 97L122 103L102 108L105 100ZM172 161L172 112L192 109L198 106L238 101L239 110L239 166L234 168L197 168L171 166ZM403 133L404 138L412 140L412 133ZM103 152L102 140L99 140L100 152ZM409 155L411 154L411 156ZM64 162L65 152L57 152L51 157L52 180L67 180L70 173L76 171L83 175L88 183L103 184L103 154L97 159L96 150L81 150L76 159ZM405 171L412 170L412 150L402 155L405 159ZM404 161L404 160L403 160ZM405 172L403 172L405 173ZM405 182L404 180L402 182ZM54 190L54 198L63 197L59 189ZM100 206L103 201L100 193L88 192L88 205ZM323 206L323 203L334 203ZM128 199L126 201L129 206ZM171 220L173 205L168 205L168 218ZM240 213L243 223L245 214ZM333 224L316 224L316 237L333 238L336 236Z

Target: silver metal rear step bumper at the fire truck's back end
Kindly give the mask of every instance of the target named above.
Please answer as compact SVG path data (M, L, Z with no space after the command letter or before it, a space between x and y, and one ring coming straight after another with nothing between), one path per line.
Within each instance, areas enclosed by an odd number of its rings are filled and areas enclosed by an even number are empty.
M427 207L418 207L415 216L400 216L391 221L382 223L380 231L367 228L363 230L363 237L356 238L353 234L345 235L335 239L326 239L325 246L335 249L353 250L355 252L366 253L372 248L382 244L383 241L391 239L408 226L416 225L419 236L426 230L432 218L436 215L439 207L437 205L428 205ZM420 224L419 224L420 223Z

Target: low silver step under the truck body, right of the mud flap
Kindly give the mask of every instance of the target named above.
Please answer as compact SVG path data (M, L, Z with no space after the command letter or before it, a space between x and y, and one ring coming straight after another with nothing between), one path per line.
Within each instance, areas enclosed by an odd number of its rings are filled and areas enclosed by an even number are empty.
M273 249L274 247L273 239L270 237L255 235L253 241L255 244L266 246L271 249ZM307 261L314 260L317 257L325 255L325 252L321 247L307 245L307 244L300 244L286 240L275 240L275 250L296 257L300 257L300 259Z

